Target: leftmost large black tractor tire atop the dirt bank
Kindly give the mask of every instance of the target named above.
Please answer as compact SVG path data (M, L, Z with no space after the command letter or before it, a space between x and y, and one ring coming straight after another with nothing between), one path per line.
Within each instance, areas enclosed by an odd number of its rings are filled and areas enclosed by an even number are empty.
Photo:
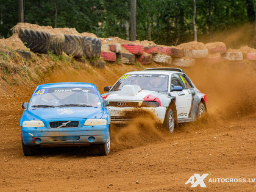
M21 28L18 36L30 51L42 54L49 51L50 34L48 32Z

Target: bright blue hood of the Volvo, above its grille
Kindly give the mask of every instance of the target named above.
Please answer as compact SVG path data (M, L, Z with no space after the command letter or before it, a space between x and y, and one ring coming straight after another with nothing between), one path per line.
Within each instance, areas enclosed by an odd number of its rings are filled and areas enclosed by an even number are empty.
M66 107L66 108L33 108L26 111L28 120L43 120L57 118L101 118L102 107Z

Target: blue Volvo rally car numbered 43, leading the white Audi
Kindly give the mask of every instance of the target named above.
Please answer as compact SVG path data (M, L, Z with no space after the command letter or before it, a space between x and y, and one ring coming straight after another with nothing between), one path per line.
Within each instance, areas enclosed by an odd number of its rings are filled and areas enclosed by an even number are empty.
M110 152L108 102L98 88L87 83L39 85L24 102L22 148L34 155L35 147L97 144L100 155Z

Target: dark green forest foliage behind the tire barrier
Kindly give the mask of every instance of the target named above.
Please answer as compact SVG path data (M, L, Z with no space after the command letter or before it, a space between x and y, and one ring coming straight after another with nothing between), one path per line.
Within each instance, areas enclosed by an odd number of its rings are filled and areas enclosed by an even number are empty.
M74 27L98 37L126 38L130 23L130 1L126 0L25 0L25 22L57 27ZM197 36L233 29L255 20L256 0L196 0ZM211 13L209 15L209 10ZM0 4L0 36L9 37L18 21L17 1ZM137 38L158 44L176 44L193 40L192 0L138 0ZM211 21L210 21L211 20ZM57 61L56 61L57 62Z

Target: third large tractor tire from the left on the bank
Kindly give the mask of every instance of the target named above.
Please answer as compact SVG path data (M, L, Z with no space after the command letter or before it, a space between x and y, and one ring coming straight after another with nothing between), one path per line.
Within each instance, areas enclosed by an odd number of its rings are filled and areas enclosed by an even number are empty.
M63 51L67 55L74 55L74 57L77 58L82 57L84 55L83 48L82 37L77 35L65 35Z

